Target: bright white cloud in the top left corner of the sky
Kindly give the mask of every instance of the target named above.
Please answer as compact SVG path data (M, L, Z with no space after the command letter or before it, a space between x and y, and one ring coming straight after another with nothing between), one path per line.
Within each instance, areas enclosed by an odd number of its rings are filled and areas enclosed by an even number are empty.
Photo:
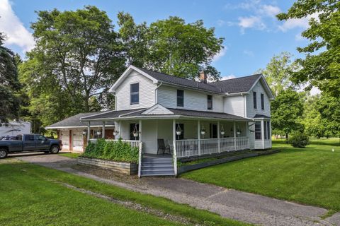
M32 34L23 26L8 0L0 0L0 16L0 32L4 32L7 37L6 45L16 44L23 52L34 47Z

